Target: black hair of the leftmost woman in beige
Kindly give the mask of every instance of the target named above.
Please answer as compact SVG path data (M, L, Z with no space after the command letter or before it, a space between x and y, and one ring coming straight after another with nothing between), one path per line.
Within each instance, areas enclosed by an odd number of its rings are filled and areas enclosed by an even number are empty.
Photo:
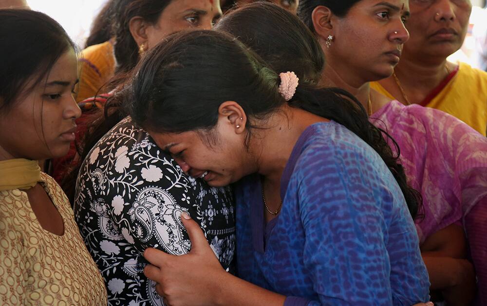
M75 44L53 18L25 9L0 9L0 110L8 111L37 74L34 88Z

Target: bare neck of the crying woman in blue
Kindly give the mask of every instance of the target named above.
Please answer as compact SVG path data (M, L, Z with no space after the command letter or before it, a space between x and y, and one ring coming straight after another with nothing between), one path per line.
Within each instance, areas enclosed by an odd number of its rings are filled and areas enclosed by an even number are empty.
M253 137L251 147L256 148L257 166L265 180L279 184L293 148L303 131L311 124L326 119L304 110L283 106Z

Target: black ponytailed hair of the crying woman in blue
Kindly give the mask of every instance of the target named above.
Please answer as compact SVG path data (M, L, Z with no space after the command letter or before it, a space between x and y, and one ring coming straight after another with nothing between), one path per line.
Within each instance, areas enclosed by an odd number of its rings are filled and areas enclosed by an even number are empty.
M285 12L272 4L249 7ZM233 14L238 13L228 18ZM265 18L270 20L267 15ZM276 28L278 25L274 24ZM262 40L254 42L260 44ZM289 67L283 65L282 68ZM278 68L277 65L274 68ZM193 31L170 36L145 57L134 70L131 83L125 87L126 107L132 119L146 129L179 133L211 130L217 124L219 105L224 101L238 101L248 115L246 130L250 137L256 127L253 119L265 119L286 103L278 92L279 83L278 74L233 36L216 31ZM393 156L381 134L385 132L368 121L365 109L353 95L339 88L318 88L313 82L304 81L287 103L333 119L371 145L396 178L412 217L417 215L421 203L419 194L407 185L397 156Z

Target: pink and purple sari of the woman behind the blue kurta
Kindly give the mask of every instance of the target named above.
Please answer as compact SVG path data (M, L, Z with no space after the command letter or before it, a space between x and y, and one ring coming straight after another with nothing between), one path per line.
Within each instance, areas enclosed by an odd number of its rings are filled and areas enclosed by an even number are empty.
M463 225L479 298L487 303L487 138L447 113L397 101L371 122L393 136L409 183L423 196L420 244L450 224Z

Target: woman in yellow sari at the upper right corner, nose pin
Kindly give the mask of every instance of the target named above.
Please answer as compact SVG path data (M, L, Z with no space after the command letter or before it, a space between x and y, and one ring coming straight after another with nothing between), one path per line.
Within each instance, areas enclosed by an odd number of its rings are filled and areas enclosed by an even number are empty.
M371 87L392 100L442 110L482 135L487 129L487 73L447 57L467 33L470 0L412 0L406 23L410 39L387 79Z

